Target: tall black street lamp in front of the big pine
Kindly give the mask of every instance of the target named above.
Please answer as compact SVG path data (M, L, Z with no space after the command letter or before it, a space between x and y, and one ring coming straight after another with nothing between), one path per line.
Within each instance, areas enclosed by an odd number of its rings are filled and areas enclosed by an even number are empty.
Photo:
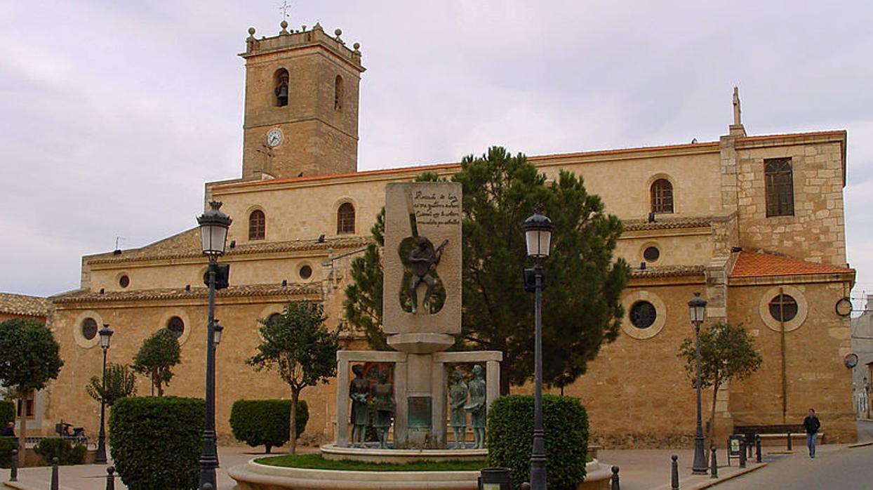
M521 224L525 231L527 256L531 259L548 258L552 245L552 220L544 216L540 209L534 210L533 216ZM543 433L543 340L542 340L542 291L545 274L543 267L537 263L524 271L525 289L533 291L534 301L534 360L533 360L533 451L531 452L531 488L546 490L546 441Z

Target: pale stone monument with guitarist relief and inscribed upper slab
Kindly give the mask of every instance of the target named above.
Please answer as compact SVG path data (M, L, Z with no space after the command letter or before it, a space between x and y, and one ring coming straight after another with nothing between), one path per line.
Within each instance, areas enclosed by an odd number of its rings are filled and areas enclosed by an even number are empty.
M475 444L484 447L482 421L499 394L503 354L444 352L461 333L461 203L460 183L388 183L382 328L395 351L337 353L336 445L349 443L350 363L394 363L395 449L444 449L447 367L484 363L475 379L480 403L464 406L478 417Z

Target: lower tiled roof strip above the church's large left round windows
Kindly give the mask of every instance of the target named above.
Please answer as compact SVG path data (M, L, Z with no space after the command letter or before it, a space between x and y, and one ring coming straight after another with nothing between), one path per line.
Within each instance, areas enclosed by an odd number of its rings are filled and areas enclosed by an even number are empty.
M318 283L288 284L250 284L246 286L230 286L216 292L218 298L238 298L246 296L285 296L300 294L320 294ZM136 291L110 291L99 293L87 289L79 289L71 293L52 298L54 303L93 303L106 301L149 301L149 300L194 300L207 298L209 289L206 287L140 289Z

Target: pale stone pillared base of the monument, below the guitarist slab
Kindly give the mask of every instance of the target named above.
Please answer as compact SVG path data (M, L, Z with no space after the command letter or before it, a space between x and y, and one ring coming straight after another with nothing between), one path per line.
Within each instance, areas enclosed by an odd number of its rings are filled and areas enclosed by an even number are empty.
M416 334L413 334L416 335ZM390 337L388 342L390 343ZM354 362L393 362L395 391L395 449L442 449L446 446L446 365L485 364L487 391L485 403L500 396L500 361L503 353L494 350L464 352L392 352L380 350L340 350L337 356L337 386L347 387L350 364ZM348 391L337 390L336 445L348 446Z

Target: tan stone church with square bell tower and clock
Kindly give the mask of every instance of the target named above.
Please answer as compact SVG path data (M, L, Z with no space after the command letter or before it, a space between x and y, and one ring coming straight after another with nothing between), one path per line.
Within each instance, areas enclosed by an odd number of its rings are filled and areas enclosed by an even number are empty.
M260 341L258 319L289 301L319 301L327 326L342 326L344 347L366 349L344 321L342 302L386 185L460 168L358 171L360 46L320 24L289 31L283 22L266 38L249 33L240 54L241 176L206 183L204 196L204 203L223 202L233 218L220 259L230 265L230 286L217 293L216 307L224 327L216 375L223 443L232 439L236 400L290 397L275 373L245 364ZM565 389L587 407L602 445L690 444L694 390L677 352L694 334L687 302L698 292L708 301L706 324L741 324L764 358L757 373L719 392L719 434L734 425L800 424L815 407L828 441L856 438L851 373L843 365L849 316L840 307L855 280L846 262L846 132L747 135L736 92L733 107L718 141L528 157L548 178L560 170L584 177L624 224L615 255L634 268L622 331ZM166 393L203 397L207 260L195 222L203 210L188 212L189 230L83 257L80 288L51 298L49 324L65 365L45 390L46 434L61 418L97 433L100 406L85 386L100 374L103 324L115 332L109 362L131 362L158 329L175 332L182 363ZM141 377L139 394L148 395L148 386ZM303 390L310 412L304 442L333 440L335 389Z

